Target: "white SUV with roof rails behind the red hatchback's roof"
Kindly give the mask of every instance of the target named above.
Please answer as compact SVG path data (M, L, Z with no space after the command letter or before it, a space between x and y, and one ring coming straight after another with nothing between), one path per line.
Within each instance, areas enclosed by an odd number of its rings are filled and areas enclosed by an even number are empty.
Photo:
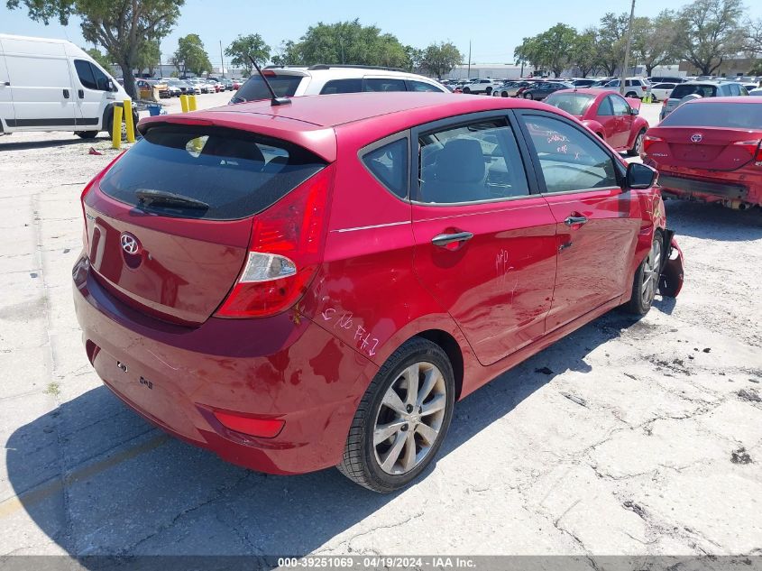
M360 91L436 91L450 93L434 79L396 69L372 66L268 66L262 73L278 97L331 95ZM270 98L259 74L252 75L230 100L242 103Z

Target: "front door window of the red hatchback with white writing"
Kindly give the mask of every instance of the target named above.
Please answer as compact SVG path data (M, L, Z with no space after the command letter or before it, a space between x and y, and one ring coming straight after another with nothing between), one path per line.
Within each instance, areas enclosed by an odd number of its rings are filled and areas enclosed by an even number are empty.
M617 187L611 156L590 136L548 116L526 115L547 192Z

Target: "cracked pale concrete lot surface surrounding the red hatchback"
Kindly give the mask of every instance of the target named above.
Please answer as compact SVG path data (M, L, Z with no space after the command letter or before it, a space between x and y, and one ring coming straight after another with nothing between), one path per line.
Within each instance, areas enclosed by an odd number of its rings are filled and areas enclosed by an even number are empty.
M762 214L667 202L680 298L599 318L469 396L436 465L381 496L335 470L225 464L101 385L70 269L79 194L114 153L0 138L0 556L762 555Z

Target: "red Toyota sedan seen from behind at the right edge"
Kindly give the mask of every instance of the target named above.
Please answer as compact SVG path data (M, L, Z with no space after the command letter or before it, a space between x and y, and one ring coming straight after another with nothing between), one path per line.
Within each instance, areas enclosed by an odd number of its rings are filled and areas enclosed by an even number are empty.
M643 160L666 196L762 206L762 98L686 102L648 130Z

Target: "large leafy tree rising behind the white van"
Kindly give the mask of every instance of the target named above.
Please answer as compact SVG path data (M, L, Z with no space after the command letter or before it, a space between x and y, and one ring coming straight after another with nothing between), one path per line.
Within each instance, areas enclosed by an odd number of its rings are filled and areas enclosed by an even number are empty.
M106 49L111 60L122 69L124 88L137 97L133 68L146 41L166 36L179 17L185 0L6 0L8 8L24 5L32 20L62 25L71 16L82 23L85 40Z

